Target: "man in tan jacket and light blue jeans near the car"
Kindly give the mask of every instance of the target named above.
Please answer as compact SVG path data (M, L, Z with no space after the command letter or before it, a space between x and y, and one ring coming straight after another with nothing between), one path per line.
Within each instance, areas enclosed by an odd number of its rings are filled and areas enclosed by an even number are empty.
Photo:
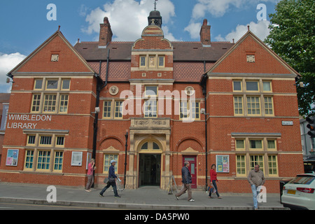
M258 210L257 188L258 186L262 186L265 183L264 173L259 168L260 166L256 164L255 169L252 169L251 172L249 172L248 177L247 177L247 180L251 184L251 190L253 192L253 206L255 210Z

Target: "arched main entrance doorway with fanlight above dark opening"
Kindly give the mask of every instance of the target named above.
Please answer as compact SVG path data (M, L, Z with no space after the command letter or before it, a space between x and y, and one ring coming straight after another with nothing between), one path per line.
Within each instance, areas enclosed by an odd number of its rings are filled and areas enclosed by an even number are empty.
M162 150L155 141L148 140L139 148L139 186L160 186Z

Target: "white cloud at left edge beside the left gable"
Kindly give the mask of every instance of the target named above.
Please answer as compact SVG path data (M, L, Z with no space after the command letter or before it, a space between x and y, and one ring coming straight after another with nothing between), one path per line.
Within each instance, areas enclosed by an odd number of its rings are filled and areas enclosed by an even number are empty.
M21 55L19 52L12 53L10 55L3 54L0 52L0 92L9 92L10 84L6 83L6 75L15 66L17 66L23 59L25 59L25 55Z

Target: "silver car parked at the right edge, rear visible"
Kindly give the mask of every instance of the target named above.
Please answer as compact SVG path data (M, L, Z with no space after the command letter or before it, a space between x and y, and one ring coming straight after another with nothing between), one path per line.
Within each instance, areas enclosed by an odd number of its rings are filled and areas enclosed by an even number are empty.
M283 186L281 203L290 209L315 210L315 174L298 174Z

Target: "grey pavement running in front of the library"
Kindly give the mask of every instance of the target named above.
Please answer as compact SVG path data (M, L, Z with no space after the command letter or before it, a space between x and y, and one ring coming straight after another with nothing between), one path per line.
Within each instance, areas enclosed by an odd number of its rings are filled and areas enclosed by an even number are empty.
M114 197L113 188L99 196L101 188L86 192L83 188L27 183L0 182L0 202L87 207L90 209L128 210L253 210L251 194L220 193L222 199L209 198L202 190L193 190L195 202L188 202L187 193L176 200L175 193L169 194L158 186L145 186L122 190L120 198ZM180 190L180 189L179 189ZM56 193L53 195L53 193ZM55 200L55 202L51 202ZM259 203L259 210L287 210L280 203L279 194L268 194L267 202Z

